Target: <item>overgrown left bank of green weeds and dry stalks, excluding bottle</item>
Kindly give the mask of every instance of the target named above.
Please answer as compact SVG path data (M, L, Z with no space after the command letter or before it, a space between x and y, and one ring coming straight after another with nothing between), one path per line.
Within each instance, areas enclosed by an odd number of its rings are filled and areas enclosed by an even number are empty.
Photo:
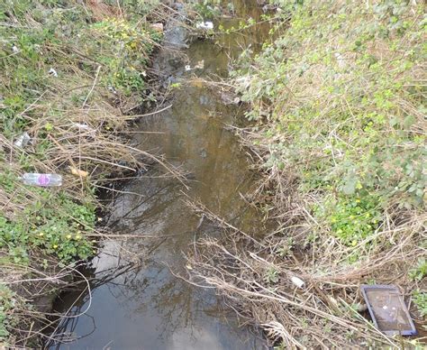
M39 346L52 295L105 235L96 189L109 175L160 161L124 131L155 102L150 54L162 33L149 20L164 11L157 1L138 12L118 4L0 4L0 345ZM30 142L17 145L23 133ZM63 182L27 186L24 172Z

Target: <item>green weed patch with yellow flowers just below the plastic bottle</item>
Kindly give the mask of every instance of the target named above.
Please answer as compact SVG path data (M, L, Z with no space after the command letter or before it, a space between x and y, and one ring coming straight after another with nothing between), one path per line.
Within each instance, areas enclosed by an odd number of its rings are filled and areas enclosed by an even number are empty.
M0 183L16 191L12 174L1 174ZM0 248L8 250L14 263L29 263L35 247L42 253L56 255L62 263L87 259L95 253L87 237L95 229L95 207L77 204L69 195L44 189L31 189L37 200L13 221L0 215Z

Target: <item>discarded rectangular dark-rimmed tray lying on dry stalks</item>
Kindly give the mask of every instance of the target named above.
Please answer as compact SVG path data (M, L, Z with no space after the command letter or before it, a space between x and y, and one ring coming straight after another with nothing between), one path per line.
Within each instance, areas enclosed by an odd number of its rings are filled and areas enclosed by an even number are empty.
M362 284L363 298L367 302L374 326L386 336L414 336L417 331L404 298L396 286Z

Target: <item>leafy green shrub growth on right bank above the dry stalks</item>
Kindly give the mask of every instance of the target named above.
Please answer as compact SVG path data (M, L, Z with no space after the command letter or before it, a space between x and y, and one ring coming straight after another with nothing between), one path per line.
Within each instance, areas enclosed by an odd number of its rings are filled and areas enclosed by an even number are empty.
M422 5L272 3L283 9L276 39L233 72L258 123L254 146L268 171L296 175L299 192L316 198L325 232L359 244L386 212L424 206Z

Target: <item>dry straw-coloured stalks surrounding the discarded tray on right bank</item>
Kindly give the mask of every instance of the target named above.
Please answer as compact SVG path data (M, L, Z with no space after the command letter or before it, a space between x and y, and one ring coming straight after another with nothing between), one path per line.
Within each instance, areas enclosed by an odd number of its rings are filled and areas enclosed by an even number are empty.
M396 284L408 299L415 286L408 281L407 271L425 256L425 249L419 246L421 221L383 232L395 239L392 249L368 253L363 263L346 265L340 263L346 249L337 251L331 238L315 249L291 250L280 257L278 248L290 235L280 231L257 242L204 207L198 209L223 226L226 238L197 242L188 256L190 283L216 287L241 318L267 331L272 344L278 342L285 348L401 348L403 339L384 336L360 314L365 307L359 285L373 280ZM289 232L289 226L286 228ZM272 272L274 279L268 277ZM303 288L291 281L294 276L304 281ZM416 320L422 323L422 318Z

